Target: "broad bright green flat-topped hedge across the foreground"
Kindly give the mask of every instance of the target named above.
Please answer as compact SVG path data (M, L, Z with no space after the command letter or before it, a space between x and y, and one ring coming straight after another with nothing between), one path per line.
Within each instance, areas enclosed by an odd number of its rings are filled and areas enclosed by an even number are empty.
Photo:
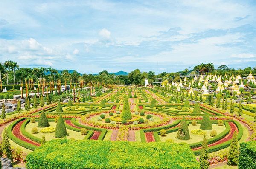
M56 139L26 160L27 169L200 169L186 143Z

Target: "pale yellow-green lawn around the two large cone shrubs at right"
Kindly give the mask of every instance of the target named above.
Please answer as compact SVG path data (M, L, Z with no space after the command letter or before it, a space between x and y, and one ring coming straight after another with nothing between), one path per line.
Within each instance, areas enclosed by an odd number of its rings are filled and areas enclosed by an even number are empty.
M221 132L223 132L226 127L218 126L217 124L212 124L212 128L217 131L217 135L218 135ZM200 129L200 124L197 124L196 126L189 125L189 131L195 130L195 129ZM210 130L203 130L203 131L206 132L207 139L212 138L210 136L210 132L211 132ZM190 140L180 140L180 139L177 139L176 136L177 136L177 132L169 133L165 137L162 137L159 135L160 140L162 142L165 142L168 139L172 139L175 143L185 142L187 144L192 144L192 143L202 141L204 138L204 135L195 135L195 134L192 134L191 132L190 132L190 138L191 138Z

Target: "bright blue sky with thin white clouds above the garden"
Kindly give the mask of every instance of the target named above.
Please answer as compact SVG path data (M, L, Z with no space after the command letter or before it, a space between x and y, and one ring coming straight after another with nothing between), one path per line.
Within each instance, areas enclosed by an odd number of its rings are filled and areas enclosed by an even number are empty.
M256 0L0 0L0 62L79 73L254 67L255 9Z

